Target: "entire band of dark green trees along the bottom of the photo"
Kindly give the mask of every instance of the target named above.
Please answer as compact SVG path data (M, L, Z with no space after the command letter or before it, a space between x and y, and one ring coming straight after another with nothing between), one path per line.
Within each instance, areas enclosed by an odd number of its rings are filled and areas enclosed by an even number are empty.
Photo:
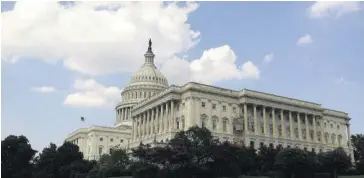
M266 175L275 178L337 178L364 172L363 135L352 137L356 167L342 148L326 153L261 145L220 143L197 126L181 131L161 147L143 145L132 150L115 148L99 161L87 161L77 145L51 143L33 159L35 150L23 137L2 141L2 176L6 178L217 178ZM132 158L132 159L131 159ZM329 174L327 173L329 172Z

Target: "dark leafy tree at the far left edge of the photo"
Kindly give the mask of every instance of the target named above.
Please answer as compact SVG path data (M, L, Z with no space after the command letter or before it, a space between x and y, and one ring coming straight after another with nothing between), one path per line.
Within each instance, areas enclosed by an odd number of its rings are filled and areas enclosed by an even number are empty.
M1 141L1 175L4 177L32 177L33 150L25 136L9 135Z

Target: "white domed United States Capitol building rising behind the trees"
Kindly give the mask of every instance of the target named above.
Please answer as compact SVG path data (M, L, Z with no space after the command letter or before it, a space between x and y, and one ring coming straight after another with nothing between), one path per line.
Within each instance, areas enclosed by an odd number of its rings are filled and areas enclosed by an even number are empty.
M220 141L315 152L341 146L353 159L350 118L345 112L248 89L195 82L170 86L154 65L151 41L144 57L145 63L121 92L115 126L80 128L66 138L79 146L85 159L98 159L116 146L130 150L140 143L165 143L194 125L208 128Z

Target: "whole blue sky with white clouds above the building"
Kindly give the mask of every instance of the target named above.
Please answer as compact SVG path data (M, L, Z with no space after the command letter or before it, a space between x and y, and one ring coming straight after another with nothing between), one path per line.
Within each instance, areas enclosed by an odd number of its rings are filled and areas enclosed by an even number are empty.
M148 39L170 84L197 81L321 103L364 125L359 2L2 2L2 139L41 150L112 126ZM81 122L80 117L86 121Z

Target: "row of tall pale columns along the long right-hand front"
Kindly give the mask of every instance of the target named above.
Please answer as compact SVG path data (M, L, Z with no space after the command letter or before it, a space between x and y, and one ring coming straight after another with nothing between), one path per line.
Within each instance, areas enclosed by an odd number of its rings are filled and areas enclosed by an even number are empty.
M259 134L258 133L258 118L257 118L257 105L252 105L253 106L253 119L254 119L254 134ZM268 131L267 131L267 107L265 106L261 106L262 107L262 112L263 112L263 132L264 135L268 135ZM272 114L272 125L273 125L273 136L277 137L277 123L276 123L276 110L279 110L278 112L280 112L280 126L282 129L282 136L283 138L286 138L286 123L285 123L285 117L284 117L284 111L283 109L277 109L277 108L271 108L271 114ZM288 137L290 137L291 139L295 139L295 135L294 135L294 128L293 128L293 118L292 115L294 112L291 112L289 110L288 111L288 116L289 116L289 131L290 131L290 135ZM306 114L306 113L299 113L299 112L295 112L296 113L296 117L297 117L297 125L298 125L298 135L299 135L299 140L303 140L303 136L302 136L302 129L301 129L301 114L304 114L304 119L305 119L305 132L306 132L306 140L311 140L310 139L310 129L309 129L309 125L308 125L308 115L312 115L312 123L313 123L313 140L312 141L317 141L317 129L316 129L316 117L313 114ZM322 121L320 121L322 122ZM322 124L321 124L322 125ZM246 134L249 134L249 129L248 129L248 104L244 104L244 131ZM323 133L321 131L321 137L323 140Z

